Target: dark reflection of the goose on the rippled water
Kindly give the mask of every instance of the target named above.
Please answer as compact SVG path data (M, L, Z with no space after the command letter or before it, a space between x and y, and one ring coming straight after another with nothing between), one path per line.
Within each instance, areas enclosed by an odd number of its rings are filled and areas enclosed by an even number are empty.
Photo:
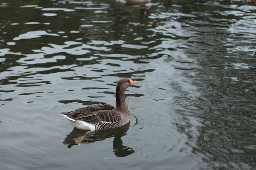
M86 138L83 139L83 144L89 144L96 141L102 141L114 137L113 140L113 153L117 157L125 157L134 153L134 150L128 146L124 146L121 137L127 135L130 123L113 129L93 131L93 133L88 134ZM66 138L63 141L63 144L68 144L68 148L71 148L75 144L74 138L78 136L83 136L85 130L79 130L76 127L73 128L72 132L67 134Z

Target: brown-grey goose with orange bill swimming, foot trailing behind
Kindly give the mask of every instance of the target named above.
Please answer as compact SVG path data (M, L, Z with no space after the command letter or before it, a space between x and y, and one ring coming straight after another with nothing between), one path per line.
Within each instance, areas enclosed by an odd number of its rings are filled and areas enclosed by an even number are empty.
M89 130L84 136L74 139L76 144L81 144L85 136L94 130L110 129L130 122L130 109L125 99L125 89L136 82L128 78L122 78L117 82L116 108L107 103L100 103L76 109L71 113L61 113L77 129Z

